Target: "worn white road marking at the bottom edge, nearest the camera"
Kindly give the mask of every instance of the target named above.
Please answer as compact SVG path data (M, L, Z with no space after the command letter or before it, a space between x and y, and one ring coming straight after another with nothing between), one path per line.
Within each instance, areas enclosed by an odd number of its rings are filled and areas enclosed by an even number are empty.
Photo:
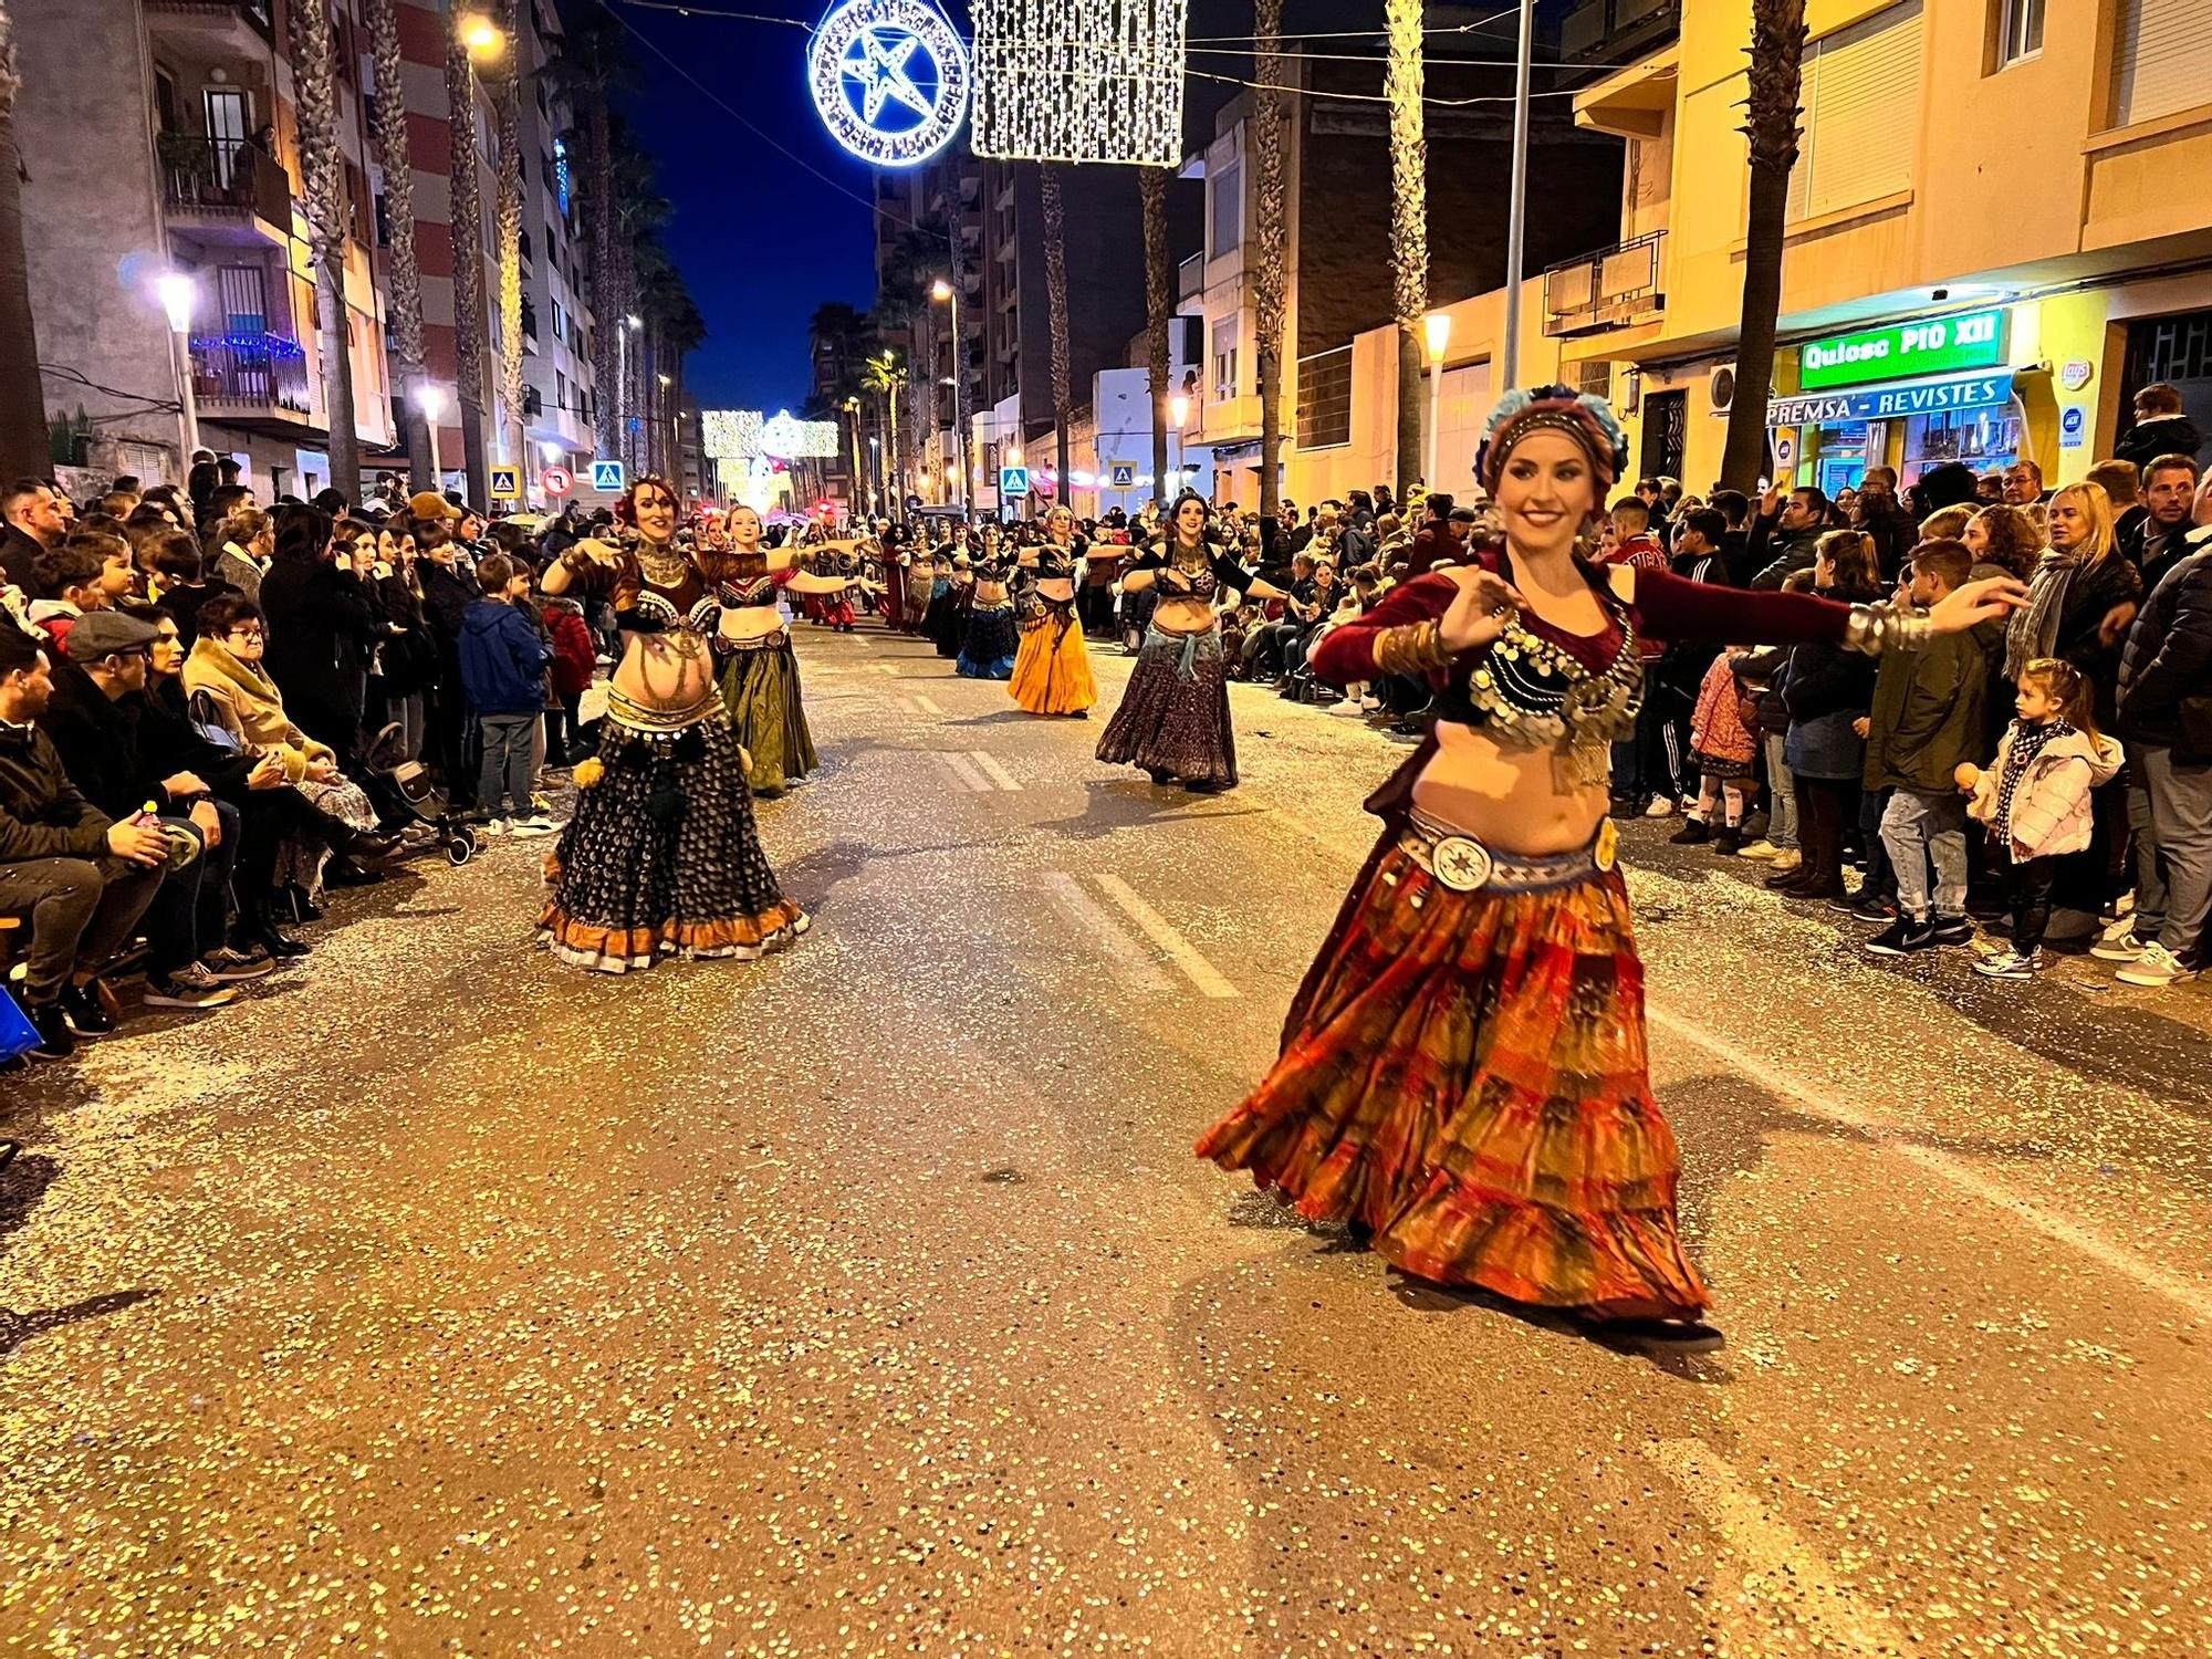
M1776 1619L1759 1617L1754 1608L1772 1608L1781 1621L1812 1637L1807 1650L1849 1659L1891 1659L1911 1646L1880 1608L1865 1608L1836 1582L1834 1568L1805 1535L1785 1517L1759 1502L1734 1467L1703 1440L1655 1440L1641 1447L1681 1486L1699 1515L1721 1535L1730 1553L1743 1562L1743 1595L1719 1613L1741 1652L1781 1652L1772 1646L1781 1630Z

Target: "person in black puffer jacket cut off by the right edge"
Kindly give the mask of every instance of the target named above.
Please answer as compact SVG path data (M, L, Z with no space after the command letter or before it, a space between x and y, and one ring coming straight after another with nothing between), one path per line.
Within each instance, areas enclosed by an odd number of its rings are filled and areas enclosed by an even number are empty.
M2148 827L2154 938L2137 920L2128 984L2179 984L2205 967L2212 916L2212 549L2174 564L2128 628L2119 659L2119 737L2128 745L2128 818ZM2143 836L2137 872L2143 869ZM2163 878L2163 880L2161 880ZM2097 947L2099 956L2110 956Z

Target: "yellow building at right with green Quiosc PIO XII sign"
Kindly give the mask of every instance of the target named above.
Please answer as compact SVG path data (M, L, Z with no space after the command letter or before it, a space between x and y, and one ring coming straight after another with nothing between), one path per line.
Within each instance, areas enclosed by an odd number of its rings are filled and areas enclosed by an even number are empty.
M1745 0L1575 100L1626 146L1619 241L1548 274L1546 330L1608 363L1637 469L1703 489L1736 396L1770 471L2033 458L2079 478L2170 380L2212 422L2212 88L2203 9L1812 0L1781 349L1739 387Z

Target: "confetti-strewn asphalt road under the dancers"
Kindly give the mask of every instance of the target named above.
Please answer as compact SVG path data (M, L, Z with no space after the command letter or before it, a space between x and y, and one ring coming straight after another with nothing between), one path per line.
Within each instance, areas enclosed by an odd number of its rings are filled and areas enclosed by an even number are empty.
M1632 825L1730 1343L1621 1354L1190 1157L1402 750L1237 688L1186 799L801 644L796 951L562 969L495 845L0 1082L0 1648L2212 1652L2212 993Z

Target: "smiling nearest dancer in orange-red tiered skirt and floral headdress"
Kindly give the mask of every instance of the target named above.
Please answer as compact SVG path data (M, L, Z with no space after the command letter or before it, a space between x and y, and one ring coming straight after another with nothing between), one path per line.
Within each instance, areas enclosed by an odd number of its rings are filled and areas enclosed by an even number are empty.
M1712 1347L1606 818L1608 750L1644 695L1639 635L1909 650L2026 588L1973 582L1911 613L1599 568L1586 538L1626 460L1601 398L1509 394L1475 462L1504 520L1495 568L1416 577L1314 653L1338 686L1425 675L1438 723L1367 803L1383 838L1281 1057L1199 1155L1420 1279Z

